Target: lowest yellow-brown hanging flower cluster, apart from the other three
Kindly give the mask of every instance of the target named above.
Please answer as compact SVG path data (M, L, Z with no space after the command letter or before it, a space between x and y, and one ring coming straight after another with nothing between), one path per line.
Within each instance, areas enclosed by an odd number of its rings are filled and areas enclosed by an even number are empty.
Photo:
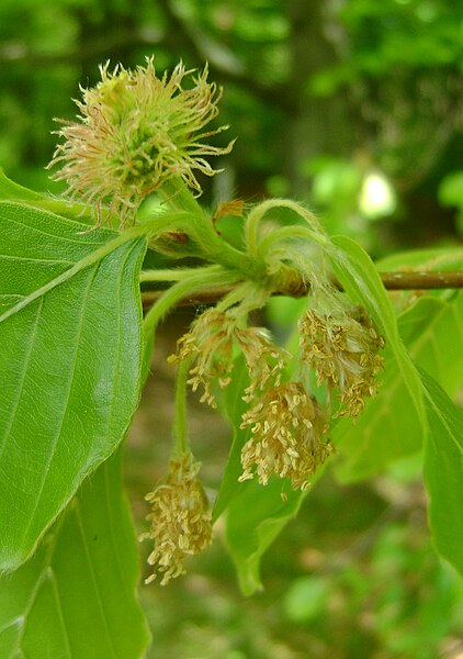
M151 504L147 520L151 526L140 540L155 540L148 557L154 573L162 574L161 585L184 574L183 561L189 555L201 554L212 541L211 512L206 495L197 479L200 463L191 453L171 459L169 473L145 499Z

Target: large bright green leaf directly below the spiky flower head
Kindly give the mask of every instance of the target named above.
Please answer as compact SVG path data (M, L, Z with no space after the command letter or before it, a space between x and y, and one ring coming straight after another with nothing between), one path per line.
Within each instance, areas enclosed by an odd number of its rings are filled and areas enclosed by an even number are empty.
M0 201L0 568L24 561L124 436L146 241Z

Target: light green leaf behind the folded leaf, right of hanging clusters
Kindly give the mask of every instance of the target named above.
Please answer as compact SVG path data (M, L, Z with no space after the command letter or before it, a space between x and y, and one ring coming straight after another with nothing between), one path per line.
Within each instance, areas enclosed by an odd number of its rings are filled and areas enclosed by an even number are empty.
M463 381L463 292L452 301L421 298L398 319L400 336L414 360L453 396ZM421 424L406 395L394 360L386 360L382 384L355 425L342 418L334 429L339 449L337 474L343 481L374 476L394 459L422 447ZM393 411L393 413L392 413Z

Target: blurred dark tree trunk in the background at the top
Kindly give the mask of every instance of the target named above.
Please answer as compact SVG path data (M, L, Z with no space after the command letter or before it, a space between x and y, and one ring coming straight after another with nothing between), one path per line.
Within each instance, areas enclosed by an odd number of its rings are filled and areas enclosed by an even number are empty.
M354 146L354 130L349 121L346 94L320 97L309 92L310 79L338 62L334 41L330 3L326 0L286 0L292 36L292 77L290 86L295 104L289 126L286 172L291 192L307 197L309 176L302 165L321 155L348 156ZM337 24L339 31L339 23Z

